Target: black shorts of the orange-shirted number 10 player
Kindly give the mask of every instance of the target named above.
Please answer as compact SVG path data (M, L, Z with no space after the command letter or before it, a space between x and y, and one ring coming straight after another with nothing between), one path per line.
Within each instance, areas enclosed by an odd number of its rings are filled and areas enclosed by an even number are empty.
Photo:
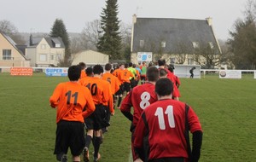
M96 109L90 116L84 119L87 130L101 130L108 127L110 114L108 107L103 105L96 105Z

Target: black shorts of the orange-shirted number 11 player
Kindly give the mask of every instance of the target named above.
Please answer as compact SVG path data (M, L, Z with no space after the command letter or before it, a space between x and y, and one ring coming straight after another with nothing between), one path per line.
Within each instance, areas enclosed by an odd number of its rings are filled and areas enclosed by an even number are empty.
M79 156L84 145L84 123L66 120L57 123L54 154L67 154L70 148L73 156Z

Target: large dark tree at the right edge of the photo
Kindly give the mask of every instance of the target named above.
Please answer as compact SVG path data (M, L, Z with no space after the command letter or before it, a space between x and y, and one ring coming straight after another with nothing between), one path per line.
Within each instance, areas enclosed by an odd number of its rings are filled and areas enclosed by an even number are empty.
M255 1L247 1L245 20L236 20L234 31L230 32L230 60L237 69L255 69L256 67L256 25Z

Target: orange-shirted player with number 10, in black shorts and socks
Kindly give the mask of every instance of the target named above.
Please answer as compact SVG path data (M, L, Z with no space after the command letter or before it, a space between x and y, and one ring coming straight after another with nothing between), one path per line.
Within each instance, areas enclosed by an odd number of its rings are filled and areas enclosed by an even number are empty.
M110 84L106 80L102 80L103 67L96 65L93 67L94 77L89 80L81 82L82 85L86 86L90 90L93 101L96 106L96 110L85 120L87 127L87 135L85 137L85 148L84 148L84 161L89 161L89 148L90 142L95 134L94 138L94 161L100 159L99 149L102 142L101 129L108 127L108 110L104 106L105 102L111 102L112 94ZM113 103L109 103L112 104ZM109 112L113 115L113 107L109 107Z

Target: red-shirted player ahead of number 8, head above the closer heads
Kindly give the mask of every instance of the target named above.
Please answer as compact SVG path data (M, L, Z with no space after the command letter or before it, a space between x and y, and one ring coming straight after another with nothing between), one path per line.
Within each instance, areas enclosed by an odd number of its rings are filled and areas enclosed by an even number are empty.
M158 60L158 66L159 66L159 70L161 68L166 69L166 60L165 59ZM167 78L169 78L172 81L172 83L175 83L176 78L173 75L173 73L170 72L168 69L166 69L166 72L167 72ZM173 84L172 97L173 97L174 100L177 100L177 101L179 100L178 98L180 97L180 93L179 93L179 90L177 89L176 84Z

